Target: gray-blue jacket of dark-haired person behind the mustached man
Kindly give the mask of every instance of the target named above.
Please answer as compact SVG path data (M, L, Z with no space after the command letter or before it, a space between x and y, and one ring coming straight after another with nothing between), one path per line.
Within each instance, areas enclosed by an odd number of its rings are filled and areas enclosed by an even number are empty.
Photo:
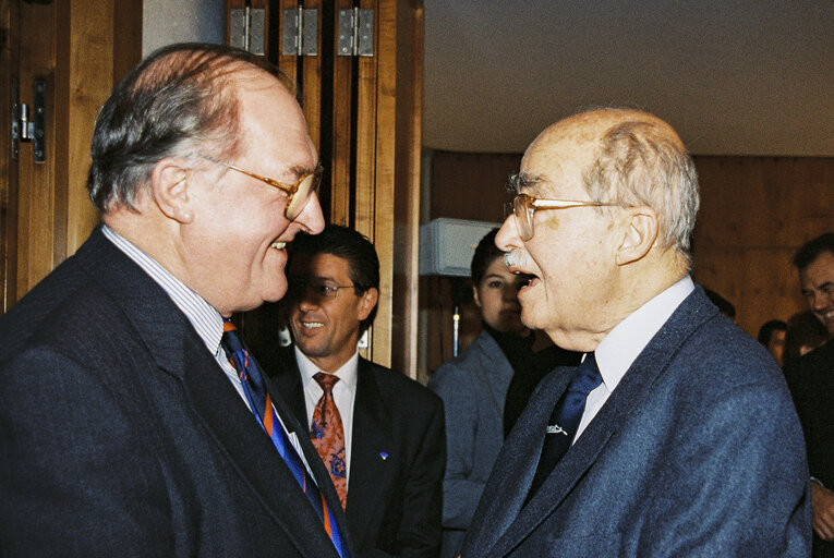
M432 375L446 411L442 558L460 553L478 501L504 445L504 402L512 366L486 331Z

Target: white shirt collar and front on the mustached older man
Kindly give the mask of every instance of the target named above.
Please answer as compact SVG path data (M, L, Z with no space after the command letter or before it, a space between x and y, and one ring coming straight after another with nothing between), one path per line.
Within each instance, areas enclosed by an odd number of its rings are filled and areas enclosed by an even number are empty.
M603 338L594 351L603 381L585 399L585 410L573 441L582 435L623 379L626 371L631 367L649 341L692 290L694 290L692 278L686 276L632 312Z

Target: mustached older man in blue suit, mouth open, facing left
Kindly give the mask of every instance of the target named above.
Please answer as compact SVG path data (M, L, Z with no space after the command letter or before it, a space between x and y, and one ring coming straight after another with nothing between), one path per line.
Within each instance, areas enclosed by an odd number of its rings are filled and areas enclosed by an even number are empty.
M802 433L781 371L689 278L694 166L632 110L560 121L511 180L498 247L522 322L588 354L539 385L463 556L807 556Z

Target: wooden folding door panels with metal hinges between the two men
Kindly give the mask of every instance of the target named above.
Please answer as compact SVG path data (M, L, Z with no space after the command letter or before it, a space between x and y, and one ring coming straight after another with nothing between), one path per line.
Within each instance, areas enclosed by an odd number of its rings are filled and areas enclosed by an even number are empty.
M376 246L379 307L363 356L416 377L422 0L228 0L227 7L266 11L265 56L298 84L326 168L325 217ZM282 53L286 10L300 7L317 10L316 56ZM353 8L373 10L372 57L337 56L339 11ZM274 342L278 314L267 306L244 317L250 344Z

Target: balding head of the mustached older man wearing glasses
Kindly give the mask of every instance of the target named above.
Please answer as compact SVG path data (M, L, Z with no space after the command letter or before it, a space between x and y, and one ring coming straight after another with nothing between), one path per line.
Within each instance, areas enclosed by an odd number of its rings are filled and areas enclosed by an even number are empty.
M689 269L698 180L656 117L603 109L561 120L530 145L510 186L524 195L496 244L532 277L522 322L563 348L593 350Z

